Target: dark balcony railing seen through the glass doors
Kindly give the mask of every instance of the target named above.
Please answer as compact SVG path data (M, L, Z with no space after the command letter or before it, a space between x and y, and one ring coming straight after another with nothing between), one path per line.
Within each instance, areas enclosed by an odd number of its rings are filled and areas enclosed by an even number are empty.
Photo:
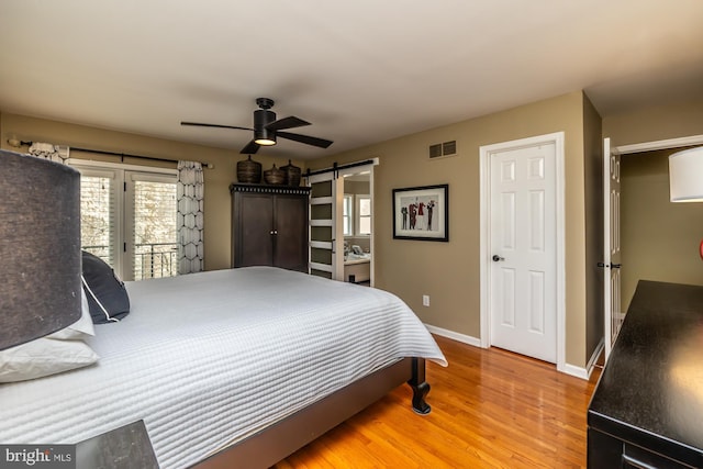
M113 265L110 246L83 246L82 249ZM177 275L177 243L145 243L134 245L134 280L175 277Z

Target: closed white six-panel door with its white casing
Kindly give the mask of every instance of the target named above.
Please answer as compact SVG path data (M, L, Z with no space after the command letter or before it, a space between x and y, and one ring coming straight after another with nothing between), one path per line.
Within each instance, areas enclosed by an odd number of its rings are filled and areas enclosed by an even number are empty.
M563 133L483 146L480 156L481 346L563 370Z

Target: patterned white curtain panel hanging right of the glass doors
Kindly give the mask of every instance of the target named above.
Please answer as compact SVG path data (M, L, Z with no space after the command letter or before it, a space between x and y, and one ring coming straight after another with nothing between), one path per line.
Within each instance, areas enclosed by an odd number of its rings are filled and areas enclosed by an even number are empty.
M178 161L178 273L203 270L204 183L202 165Z

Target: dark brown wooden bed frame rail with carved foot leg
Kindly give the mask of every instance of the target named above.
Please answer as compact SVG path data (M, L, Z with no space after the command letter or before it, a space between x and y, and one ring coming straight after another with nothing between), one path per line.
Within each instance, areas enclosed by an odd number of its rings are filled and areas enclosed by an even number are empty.
M403 358L223 449L194 468L270 468L404 382L413 390L413 411L428 414L431 407L425 397L429 384L425 381L425 360Z

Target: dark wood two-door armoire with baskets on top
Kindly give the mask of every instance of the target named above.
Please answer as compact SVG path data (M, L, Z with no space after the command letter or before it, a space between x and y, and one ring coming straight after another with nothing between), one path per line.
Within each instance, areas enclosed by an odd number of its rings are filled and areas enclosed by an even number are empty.
M308 271L310 188L232 185L232 267Z

